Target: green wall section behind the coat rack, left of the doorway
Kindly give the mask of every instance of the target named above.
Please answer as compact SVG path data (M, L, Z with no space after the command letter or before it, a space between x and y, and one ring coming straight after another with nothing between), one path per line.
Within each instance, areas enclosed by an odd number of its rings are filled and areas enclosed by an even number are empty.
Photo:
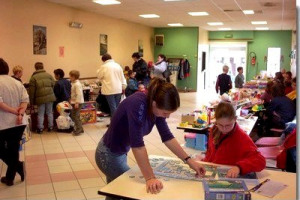
M154 35L164 35L164 45L154 47L155 58L158 54L164 54L167 58L186 55L191 65L190 77L177 80L177 88L184 89L187 87L196 91L199 28L155 28Z

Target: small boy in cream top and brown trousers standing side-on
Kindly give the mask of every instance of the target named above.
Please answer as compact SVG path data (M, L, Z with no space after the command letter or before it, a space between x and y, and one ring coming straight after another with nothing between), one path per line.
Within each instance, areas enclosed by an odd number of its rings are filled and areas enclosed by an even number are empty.
M69 73L70 75L70 81L71 81L71 105L73 107L71 111L71 119L75 123L75 130L73 134L75 136L80 135L81 133L84 132L82 128L82 122L80 120L80 110L82 107L82 104L84 103L83 99L83 90L82 90L82 85L80 83L79 76L80 73L77 70L72 70Z

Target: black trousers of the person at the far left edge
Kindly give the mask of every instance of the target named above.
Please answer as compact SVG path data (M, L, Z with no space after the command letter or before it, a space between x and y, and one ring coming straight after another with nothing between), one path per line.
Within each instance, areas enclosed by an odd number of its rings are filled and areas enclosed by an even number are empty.
M23 167L19 161L19 148L25 125L0 130L0 158L7 165L6 178L14 180L16 172Z

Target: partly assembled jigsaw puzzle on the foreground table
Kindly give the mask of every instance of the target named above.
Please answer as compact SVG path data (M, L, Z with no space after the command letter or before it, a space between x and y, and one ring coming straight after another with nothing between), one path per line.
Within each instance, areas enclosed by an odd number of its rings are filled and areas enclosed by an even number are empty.
M180 160L167 160L163 158L150 159L154 174L170 178L202 181L203 178L196 177L196 172ZM213 179L216 176L216 167L203 165L206 170L204 179Z

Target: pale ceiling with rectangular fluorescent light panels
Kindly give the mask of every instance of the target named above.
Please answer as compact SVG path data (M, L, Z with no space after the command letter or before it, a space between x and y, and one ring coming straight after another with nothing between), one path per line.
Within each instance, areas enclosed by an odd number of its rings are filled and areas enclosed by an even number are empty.
M214 31L232 30L296 30L296 0L119 0L121 4L102 6L92 0L47 0L76 9L99 13L150 27L168 27L169 23L182 23ZM242 10L254 10L245 15ZM188 12L208 12L208 16L193 17ZM160 18L145 19L141 14L157 14ZM267 25L252 25L251 21L267 21ZM207 22L223 22L222 26L209 26Z

